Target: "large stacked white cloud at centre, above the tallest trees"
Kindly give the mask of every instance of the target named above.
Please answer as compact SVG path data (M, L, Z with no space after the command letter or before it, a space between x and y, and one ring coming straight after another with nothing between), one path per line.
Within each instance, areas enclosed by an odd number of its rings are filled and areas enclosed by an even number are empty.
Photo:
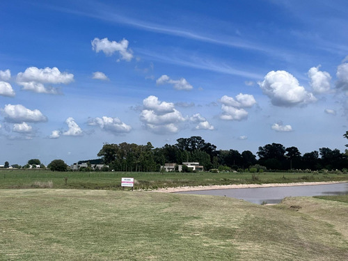
M186 119L173 103L160 102L156 96L149 96L143 100L140 120L151 132L164 134L178 132L178 124Z

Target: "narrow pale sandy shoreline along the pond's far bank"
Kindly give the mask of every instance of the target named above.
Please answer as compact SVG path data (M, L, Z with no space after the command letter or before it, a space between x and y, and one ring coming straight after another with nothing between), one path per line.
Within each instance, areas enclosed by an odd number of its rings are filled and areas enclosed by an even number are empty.
M155 189L153 192L175 193L185 191L215 190L215 189L249 189L249 188L267 188L267 187L294 187L294 186L313 186L336 183L347 183L348 181L324 181L324 182L292 182L292 183L267 183L267 184L231 184L231 185L212 185L198 187L175 187Z

